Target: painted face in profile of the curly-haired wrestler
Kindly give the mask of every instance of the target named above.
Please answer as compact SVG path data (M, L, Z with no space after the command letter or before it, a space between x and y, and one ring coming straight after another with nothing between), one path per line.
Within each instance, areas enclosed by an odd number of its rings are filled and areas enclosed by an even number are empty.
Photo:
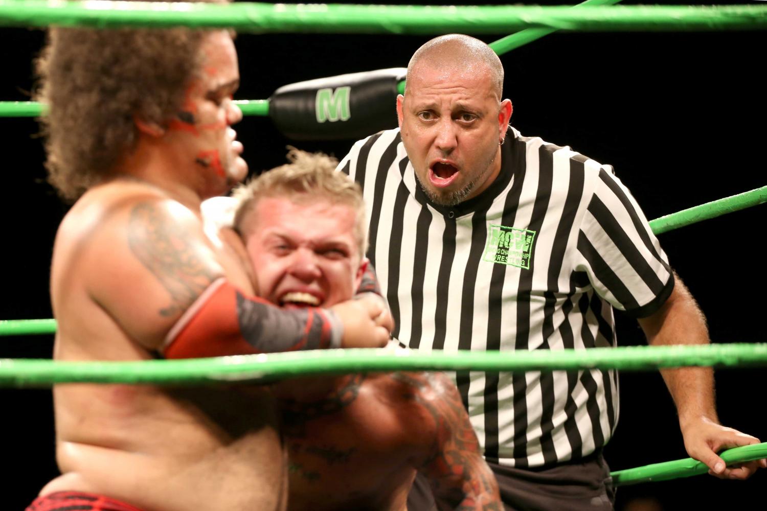
M226 192L248 174L232 124L242 110L232 102L239 87L237 52L227 31L214 31L200 46L202 69L186 89L181 110L166 126L177 158L194 165L202 195Z

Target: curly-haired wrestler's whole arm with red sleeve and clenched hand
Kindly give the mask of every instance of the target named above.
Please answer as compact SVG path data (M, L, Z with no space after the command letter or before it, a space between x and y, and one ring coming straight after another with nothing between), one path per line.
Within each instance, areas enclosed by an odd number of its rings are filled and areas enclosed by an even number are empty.
M372 346L388 339L374 324L380 306L280 310L242 293L199 219L175 201L145 198L123 209L100 228L96 259L107 268L94 267L91 294L146 349L186 358L330 347L341 335Z

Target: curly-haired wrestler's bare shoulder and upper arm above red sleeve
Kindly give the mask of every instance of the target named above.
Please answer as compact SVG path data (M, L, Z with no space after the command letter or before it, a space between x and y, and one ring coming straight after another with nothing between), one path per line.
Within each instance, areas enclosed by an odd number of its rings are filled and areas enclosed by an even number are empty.
M64 218L51 298L59 316L96 307L153 348L221 274L195 212L157 188L120 182L93 188Z

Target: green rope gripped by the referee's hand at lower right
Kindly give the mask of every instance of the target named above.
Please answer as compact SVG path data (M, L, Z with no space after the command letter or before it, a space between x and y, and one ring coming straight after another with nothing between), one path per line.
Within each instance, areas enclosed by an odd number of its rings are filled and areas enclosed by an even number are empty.
M767 457L767 443L733 447L719 453L719 457L728 466L744 461L761 460ZM616 470L610 475L613 478L614 486L628 486L630 484L649 483L650 481L667 481L697 476L708 471L709 467L706 467L703 462L693 460L693 458L684 458L683 460L664 461L644 467Z

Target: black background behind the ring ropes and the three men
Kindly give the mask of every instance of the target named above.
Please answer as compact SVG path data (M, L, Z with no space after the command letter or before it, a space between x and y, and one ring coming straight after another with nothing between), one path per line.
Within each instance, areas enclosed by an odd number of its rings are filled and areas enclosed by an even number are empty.
M624 2L630 3L636 2ZM490 42L504 35L479 37ZM265 99L300 80L406 66L429 38L240 34L242 87L235 99ZM31 59L42 39L42 31L0 30L0 100L28 100ZM502 56L505 97L515 106L512 125L526 136L570 145L614 165L650 219L759 188L767 182L764 47L764 31L551 34ZM391 111L394 116L394 105ZM291 142L271 121L246 117L235 128L252 172L283 162ZM37 132L35 120L0 118L0 319L51 317L48 267L66 207L44 183ZM296 145L341 158L351 142ZM765 211L757 206L660 235L673 267L706 313L714 342L765 341ZM635 322L618 322L621 345L644 342ZM0 338L0 357L50 356L50 336ZM719 371L717 402L724 424L767 440L762 371ZM0 508L23 509L56 474L51 393L3 388L0 406L6 473ZM613 470L686 457L657 373L621 375L621 420L606 455ZM629 486L619 490L617 507L759 506L765 477L760 472L743 483L699 476Z

